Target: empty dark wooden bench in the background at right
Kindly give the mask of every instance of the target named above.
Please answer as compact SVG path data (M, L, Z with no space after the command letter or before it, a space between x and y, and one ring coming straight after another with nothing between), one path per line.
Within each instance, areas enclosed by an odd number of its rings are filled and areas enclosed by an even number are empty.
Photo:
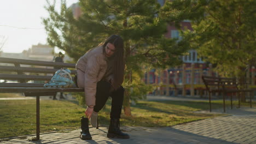
M223 97L223 110L225 111L225 96L231 93L230 102L232 109L232 97L236 93L238 96L238 107L240 107L240 93L250 93L250 106L252 107L253 89L240 89L238 88L238 82L236 78L214 77L214 76L202 76L203 83L205 83L206 89L209 93L210 112L211 106L211 93L221 93Z

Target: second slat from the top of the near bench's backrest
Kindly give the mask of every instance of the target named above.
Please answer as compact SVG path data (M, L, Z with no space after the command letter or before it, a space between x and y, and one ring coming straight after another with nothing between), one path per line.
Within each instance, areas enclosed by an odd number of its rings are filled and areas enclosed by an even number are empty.
M51 68L30 68L30 67L11 67L0 65L1 71L22 71L24 73L44 73L44 74L54 74L59 69ZM75 70L71 70L71 74L75 74Z

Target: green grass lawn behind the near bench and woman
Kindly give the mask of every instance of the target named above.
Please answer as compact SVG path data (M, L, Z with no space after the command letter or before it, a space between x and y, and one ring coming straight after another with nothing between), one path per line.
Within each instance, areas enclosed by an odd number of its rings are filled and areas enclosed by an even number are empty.
M248 105L248 104L246 104ZM213 109L222 101L213 101ZM208 101L138 101L132 117L121 115L121 125L166 127L219 116L194 111L208 110ZM40 133L79 129L85 107L77 101L40 100ZM110 101L99 113L100 124L109 124ZM0 100L0 138L36 133L36 100Z

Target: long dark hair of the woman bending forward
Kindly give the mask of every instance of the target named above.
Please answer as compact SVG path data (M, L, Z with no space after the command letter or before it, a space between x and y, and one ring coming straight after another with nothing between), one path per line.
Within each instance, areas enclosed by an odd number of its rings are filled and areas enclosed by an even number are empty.
M112 86L117 89L124 81L124 40L119 35L111 35L103 44L104 50L108 43L115 46Z

